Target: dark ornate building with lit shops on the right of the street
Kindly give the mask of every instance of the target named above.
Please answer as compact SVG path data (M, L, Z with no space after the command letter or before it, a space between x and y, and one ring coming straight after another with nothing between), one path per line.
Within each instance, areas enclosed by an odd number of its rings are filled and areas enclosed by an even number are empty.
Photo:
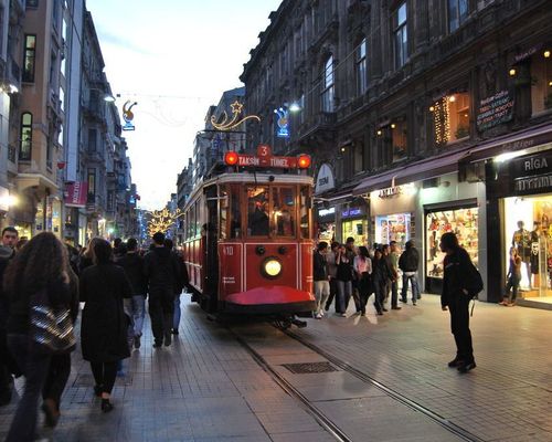
M513 243L523 301L542 301L551 14L546 1L283 1L242 75L264 120L252 147L314 156L321 236L413 240L424 287L438 292L438 241L454 231L488 301L501 297ZM301 112L277 139L272 109L286 103Z

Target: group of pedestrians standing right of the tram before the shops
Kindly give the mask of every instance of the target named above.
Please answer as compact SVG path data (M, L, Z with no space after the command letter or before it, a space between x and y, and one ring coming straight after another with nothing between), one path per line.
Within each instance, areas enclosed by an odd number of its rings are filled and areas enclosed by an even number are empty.
M412 287L412 304L421 299L417 270L420 254L412 241L406 242L405 251L400 253L399 244L374 244L368 249L355 246L354 239L348 238L344 244L321 241L314 256L314 282L316 311L314 316L321 319L335 303L336 314L347 317L351 298L357 314L367 314L367 304L374 295L373 305L378 315L390 308L400 311L399 280L402 278L400 301L407 303L408 283Z

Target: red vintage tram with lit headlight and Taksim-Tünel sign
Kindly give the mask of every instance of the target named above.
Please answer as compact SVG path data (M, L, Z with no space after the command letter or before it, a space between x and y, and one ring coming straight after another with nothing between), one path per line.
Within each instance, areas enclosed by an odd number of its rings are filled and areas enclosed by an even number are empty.
M226 170L193 189L183 252L202 308L277 318L315 309L309 165L267 146L257 156L227 152Z

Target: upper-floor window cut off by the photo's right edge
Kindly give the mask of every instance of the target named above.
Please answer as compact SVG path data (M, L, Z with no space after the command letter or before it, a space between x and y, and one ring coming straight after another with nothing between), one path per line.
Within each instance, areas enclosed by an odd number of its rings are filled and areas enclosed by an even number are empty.
M533 115L552 109L551 50L534 55L531 61L531 102ZM548 55L548 56L546 56Z

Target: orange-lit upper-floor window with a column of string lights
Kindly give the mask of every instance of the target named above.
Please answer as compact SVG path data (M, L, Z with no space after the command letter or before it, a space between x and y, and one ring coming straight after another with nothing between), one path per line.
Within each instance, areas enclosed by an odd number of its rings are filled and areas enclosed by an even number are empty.
M435 102L433 114L435 143L445 146L469 137L469 93L456 93Z

